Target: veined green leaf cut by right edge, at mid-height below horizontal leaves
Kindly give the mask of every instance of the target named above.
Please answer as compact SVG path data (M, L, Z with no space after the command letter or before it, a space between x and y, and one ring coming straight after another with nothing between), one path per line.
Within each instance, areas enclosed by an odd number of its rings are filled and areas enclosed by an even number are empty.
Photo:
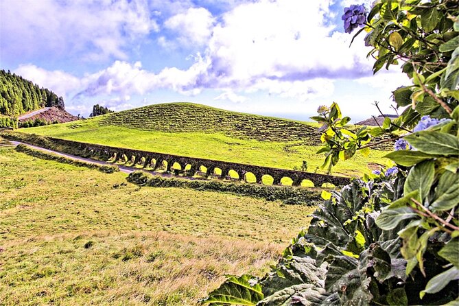
M434 211L452 209L459 202L459 174L446 171L440 176L435 191L436 200L430 206Z

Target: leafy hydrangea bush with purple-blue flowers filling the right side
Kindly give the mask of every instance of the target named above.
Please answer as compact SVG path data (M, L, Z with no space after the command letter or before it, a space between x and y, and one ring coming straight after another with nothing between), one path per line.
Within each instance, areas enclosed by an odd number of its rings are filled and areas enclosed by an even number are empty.
M361 5L355 8L343 16L348 32L360 23L360 16L351 19L361 14ZM395 151L386 155L396 165L354 180L314 212L308 230L259 279L264 300L257 305L274 296L283 296L277 305L459 302L458 14L457 1L373 3L357 34L368 32L365 43L373 46L368 56L376 60L375 73L403 62L403 72L413 81L393 92L403 113L357 132L346 128L349 117L342 117L334 103L321 106L313 119L322 123L323 167L330 170L357 150L368 150L382 134L389 135L387 141L397 140ZM287 270L286 276L283 265L295 257L315 263ZM298 279L298 270L308 274L314 268L325 268L325 283ZM303 293L298 283L313 285L318 294Z

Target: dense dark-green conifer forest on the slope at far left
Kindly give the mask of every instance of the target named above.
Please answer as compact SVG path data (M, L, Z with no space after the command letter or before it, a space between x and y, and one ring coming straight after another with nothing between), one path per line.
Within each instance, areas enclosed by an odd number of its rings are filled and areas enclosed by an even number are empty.
M0 114L17 117L51 106L64 109L64 99L19 75L0 70Z

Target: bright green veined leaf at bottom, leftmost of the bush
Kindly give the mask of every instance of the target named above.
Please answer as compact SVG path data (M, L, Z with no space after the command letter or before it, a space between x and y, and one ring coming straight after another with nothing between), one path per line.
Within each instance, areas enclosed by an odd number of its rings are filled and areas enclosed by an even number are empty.
M261 285L250 285L249 281L254 276L244 274L242 276L229 276L228 279L216 290L213 290L207 298L200 301L201 305L256 305L263 299Z

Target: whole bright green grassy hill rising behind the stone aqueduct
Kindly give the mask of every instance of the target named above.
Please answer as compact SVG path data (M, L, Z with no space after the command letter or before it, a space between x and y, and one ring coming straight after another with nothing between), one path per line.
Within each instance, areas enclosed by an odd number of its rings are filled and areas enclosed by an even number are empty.
M234 113L198 104L156 104L85 121L22 129L21 132L209 158L235 163L293 169L307 161L309 172L323 162L313 123ZM356 154L338 163L333 174L359 176L368 164L383 163L384 152Z

